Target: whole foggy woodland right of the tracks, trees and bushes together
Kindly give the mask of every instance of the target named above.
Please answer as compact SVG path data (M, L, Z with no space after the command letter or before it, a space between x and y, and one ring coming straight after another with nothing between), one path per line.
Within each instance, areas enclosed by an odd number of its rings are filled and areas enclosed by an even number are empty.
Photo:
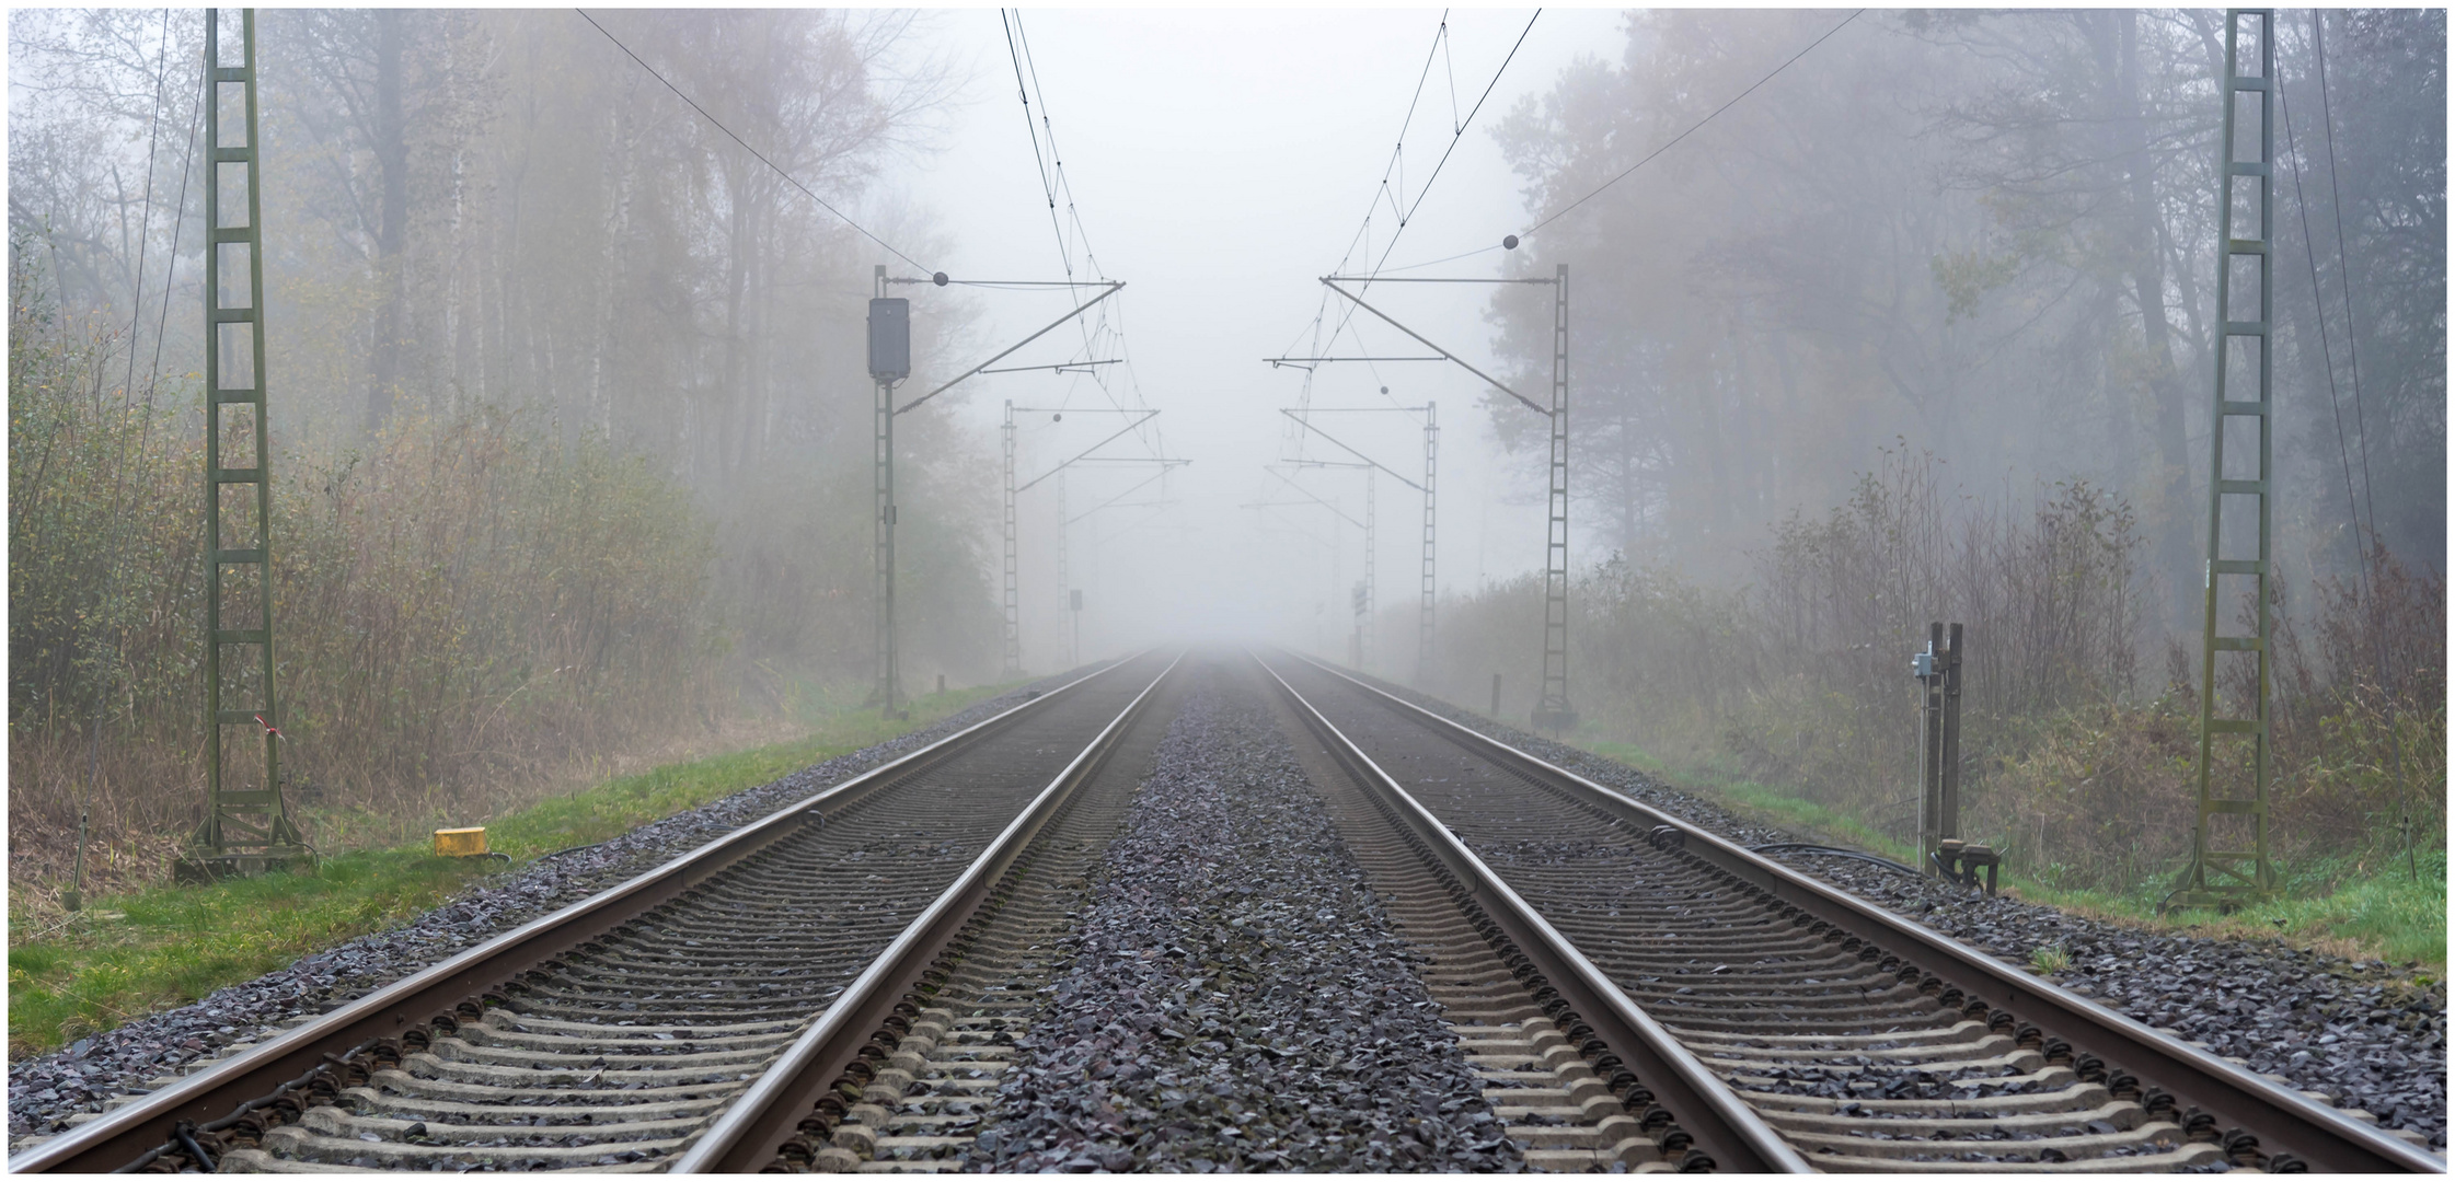
M1635 15L1615 56L1498 130L1527 206L1628 169L1836 20ZM1613 738L1905 836L1908 657L1962 620L1969 836L2082 883L2170 875L2197 758L2224 17L1851 25L1718 115L1714 150L1655 159L1512 260L1571 267L1571 699ZM2448 29L2443 10L2276 27L2278 841L2349 868L2445 824ZM1490 316L1539 380L1532 292ZM1542 422L1488 402L1539 463ZM1520 579L1451 608L1441 689L1475 704L1505 669L1522 719L1539 603ZM2241 677L2219 665L2234 706Z

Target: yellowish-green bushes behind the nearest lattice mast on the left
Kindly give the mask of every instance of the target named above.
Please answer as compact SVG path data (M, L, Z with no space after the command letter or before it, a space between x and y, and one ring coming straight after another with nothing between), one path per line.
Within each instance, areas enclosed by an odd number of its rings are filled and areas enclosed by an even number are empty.
M12 878L66 871L81 809L106 846L184 834L204 780L194 385L108 390L29 270L10 321ZM334 459L275 444L290 795L388 826L339 836L481 817L582 753L717 721L714 549L641 459L491 410L403 417Z

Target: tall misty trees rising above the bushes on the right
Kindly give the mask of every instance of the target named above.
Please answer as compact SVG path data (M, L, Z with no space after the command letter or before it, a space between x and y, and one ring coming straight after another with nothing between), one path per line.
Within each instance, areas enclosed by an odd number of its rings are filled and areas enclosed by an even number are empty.
M2219 69L2217 10L1630 15L1495 132L1544 218L1507 272L1569 265L1581 544L1736 584L1790 505L1849 500L1858 456L1905 439L2006 493L2116 495L2153 576L2133 611L2192 628ZM2278 76L2276 552L2295 586L2352 571L2359 493L2435 569L2445 12L2278 12ZM1502 365L1547 375L1549 292L1488 314ZM1532 476L1539 424L1485 402Z

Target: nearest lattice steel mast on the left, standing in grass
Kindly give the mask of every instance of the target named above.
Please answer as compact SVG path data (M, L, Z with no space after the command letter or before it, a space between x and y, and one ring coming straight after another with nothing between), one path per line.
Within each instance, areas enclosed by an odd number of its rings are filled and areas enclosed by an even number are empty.
M179 861L179 878L260 873L309 853L282 799L285 738L273 692L273 424L265 412L253 7L241 10L238 34L238 64L228 64L221 10L204 12L206 802L204 826ZM223 140L231 128L241 130L243 142ZM263 763L250 753L260 753Z

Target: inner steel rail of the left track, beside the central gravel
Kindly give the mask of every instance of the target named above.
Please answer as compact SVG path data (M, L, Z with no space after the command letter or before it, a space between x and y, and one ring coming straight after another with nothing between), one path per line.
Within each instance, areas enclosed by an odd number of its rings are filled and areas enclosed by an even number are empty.
M1016 817L962 871L960 878L928 910L921 912L894 944L886 947L869 969L862 971L845 988L842 996L827 1005L827 1013L808 1030L776 1062L751 1081L724 1116L717 1118L700 1138L682 1153L673 1165L675 1175L749 1175L761 1172L764 1165L773 1162L778 1148L800 1133L800 1121L810 1116L815 1101L830 1091L830 1081L852 1067L859 1054L862 1042L869 1032L884 1023L906 991L911 991L930 961L945 951L945 944L972 920L980 902L989 895L997 880L1014 866L1016 858L1041 836L1041 831L1058 817L1058 812L1075 797L1075 790L1090 782L1105 765L1110 753L1124 738L1124 731L1142 716L1144 704L1159 692L1159 687L1183 665L1186 655L1178 652L1159 677L1151 679L1134 701L1117 714L1107 728L1100 731L1090 745L1083 748L1041 790L1038 797Z

